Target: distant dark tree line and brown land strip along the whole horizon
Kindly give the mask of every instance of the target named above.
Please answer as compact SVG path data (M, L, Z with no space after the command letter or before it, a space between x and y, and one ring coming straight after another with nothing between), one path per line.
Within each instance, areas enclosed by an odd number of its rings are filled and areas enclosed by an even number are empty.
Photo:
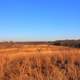
M4 41L0 42L1 47L19 47L20 45L39 45L39 44L48 44L56 46L68 46L73 48L80 48L80 40L57 40L57 41L41 41L41 42L14 42L14 41Z

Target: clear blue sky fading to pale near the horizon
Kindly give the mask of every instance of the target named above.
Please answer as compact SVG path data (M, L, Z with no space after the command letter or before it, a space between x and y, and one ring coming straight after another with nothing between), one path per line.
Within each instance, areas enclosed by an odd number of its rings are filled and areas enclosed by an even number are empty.
M0 0L0 40L80 38L80 0Z

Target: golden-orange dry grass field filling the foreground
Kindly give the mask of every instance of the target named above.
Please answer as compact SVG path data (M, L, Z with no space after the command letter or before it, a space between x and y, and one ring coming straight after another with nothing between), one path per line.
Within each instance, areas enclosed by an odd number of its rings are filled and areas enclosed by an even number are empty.
M80 80L80 49L48 44L0 47L0 80Z

